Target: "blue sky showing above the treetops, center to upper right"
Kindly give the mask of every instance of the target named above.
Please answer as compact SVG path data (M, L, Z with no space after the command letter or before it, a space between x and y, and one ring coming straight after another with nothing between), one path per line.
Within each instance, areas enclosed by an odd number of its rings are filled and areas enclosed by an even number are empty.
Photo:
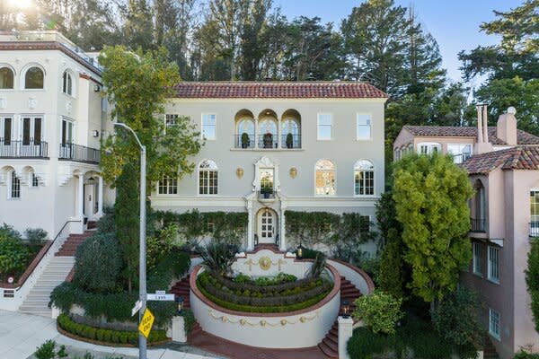
M340 27L343 18L363 0L274 0L288 18L318 16L323 22ZM449 78L460 81L461 66L457 54L479 45L498 43L495 36L480 31L482 22L494 19L492 10L507 11L522 4L522 0L395 0L395 4L413 4L421 24L437 39L443 66Z

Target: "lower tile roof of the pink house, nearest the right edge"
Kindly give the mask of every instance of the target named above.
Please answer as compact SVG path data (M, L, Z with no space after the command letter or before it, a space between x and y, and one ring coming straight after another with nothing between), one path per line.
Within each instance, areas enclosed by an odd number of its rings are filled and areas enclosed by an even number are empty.
M469 174L502 170L539 170L539 147L520 146L490 153L474 154L461 167Z

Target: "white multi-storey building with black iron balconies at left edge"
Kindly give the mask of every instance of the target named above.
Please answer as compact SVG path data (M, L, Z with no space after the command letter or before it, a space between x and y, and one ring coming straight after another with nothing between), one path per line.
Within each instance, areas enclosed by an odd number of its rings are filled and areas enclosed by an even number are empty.
M102 215L100 74L56 31L0 32L0 223L52 239Z

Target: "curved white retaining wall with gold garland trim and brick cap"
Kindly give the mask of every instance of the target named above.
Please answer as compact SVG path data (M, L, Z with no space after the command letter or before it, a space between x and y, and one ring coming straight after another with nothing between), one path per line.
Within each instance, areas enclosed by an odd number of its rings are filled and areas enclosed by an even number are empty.
M197 288L197 266L190 274L190 306L204 331L246 346L299 348L317 346L331 329L340 308L340 276L326 265L334 286L321 302L301 311L247 313L230 311L210 302Z

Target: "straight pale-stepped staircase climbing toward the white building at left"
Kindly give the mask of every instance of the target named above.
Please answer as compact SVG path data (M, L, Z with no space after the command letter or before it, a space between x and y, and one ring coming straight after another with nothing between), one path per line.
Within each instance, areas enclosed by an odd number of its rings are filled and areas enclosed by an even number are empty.
M75 252L78 246L94 231L86 231L83 234L70 234L62 247L50 259L49 264L43 270L36 284L22 302L19 311L24 313L50 317L49 308L50 293L57 285L66 280L75 265Z

